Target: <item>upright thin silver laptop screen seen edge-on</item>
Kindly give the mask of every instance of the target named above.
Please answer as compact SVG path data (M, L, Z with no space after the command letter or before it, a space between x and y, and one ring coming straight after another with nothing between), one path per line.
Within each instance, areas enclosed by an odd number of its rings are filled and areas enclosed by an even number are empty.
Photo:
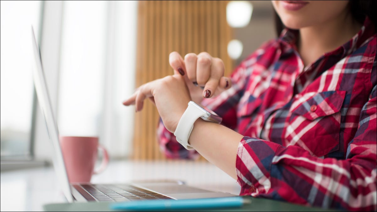
M64 165L63 154L61 153L59 144L59 131L54 113L52 112L51 100L47 89L46 78L44 77L41 55L39 52L39 45L35 39L34 29L31 27L32 45L34 52L34 68L33 80L35 91L37 92L38 102L46 122L47 131L50 141L54 147L54 156L52 162L54 164L55 173L57 174L58 183L63 190L64 196L69 202L73 202L73 197L70 190L70 185L67 177L66 168Z

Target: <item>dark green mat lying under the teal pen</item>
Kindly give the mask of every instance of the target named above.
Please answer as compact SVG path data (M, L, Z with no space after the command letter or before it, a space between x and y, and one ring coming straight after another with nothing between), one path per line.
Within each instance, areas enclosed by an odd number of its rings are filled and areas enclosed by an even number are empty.
M244 197L251 201L242 207L215 208L215 209L198 209L198 210L179 210L179 211L339 211L322 209L319 207L307 207L297 204L286 203L264 198ZM45 204L44 211L120 211L110 210L109 202L89 202L89 203L53 203ZM172 211L172 210L164 210ZM177 210L175 210L177 211Z

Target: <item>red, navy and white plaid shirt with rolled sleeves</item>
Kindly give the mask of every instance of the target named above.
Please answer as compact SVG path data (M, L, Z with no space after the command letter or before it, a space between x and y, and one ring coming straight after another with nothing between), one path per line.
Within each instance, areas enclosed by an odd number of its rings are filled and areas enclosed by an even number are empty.
M232 88L202 104L240 141L240 195L346 210L376 210L376 34L358 34L305 67L297 31L244 60ZM162 150L194 158L160 122Z

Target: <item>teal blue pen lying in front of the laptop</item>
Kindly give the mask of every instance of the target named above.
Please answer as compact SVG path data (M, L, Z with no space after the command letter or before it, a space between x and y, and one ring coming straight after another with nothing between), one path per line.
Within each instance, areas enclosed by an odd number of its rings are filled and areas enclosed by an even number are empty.
M114 210L184 210L221 207L241 207L247 201L242 197L202 198L186 200L139 200L110 205Z

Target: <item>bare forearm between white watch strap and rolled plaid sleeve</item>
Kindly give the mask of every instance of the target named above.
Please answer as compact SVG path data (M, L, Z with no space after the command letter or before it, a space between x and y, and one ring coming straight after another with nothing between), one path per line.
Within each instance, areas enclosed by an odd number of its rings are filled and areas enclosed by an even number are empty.
M243 136L221 124L196 120L189 144L205 159L237 180L236 157Z

